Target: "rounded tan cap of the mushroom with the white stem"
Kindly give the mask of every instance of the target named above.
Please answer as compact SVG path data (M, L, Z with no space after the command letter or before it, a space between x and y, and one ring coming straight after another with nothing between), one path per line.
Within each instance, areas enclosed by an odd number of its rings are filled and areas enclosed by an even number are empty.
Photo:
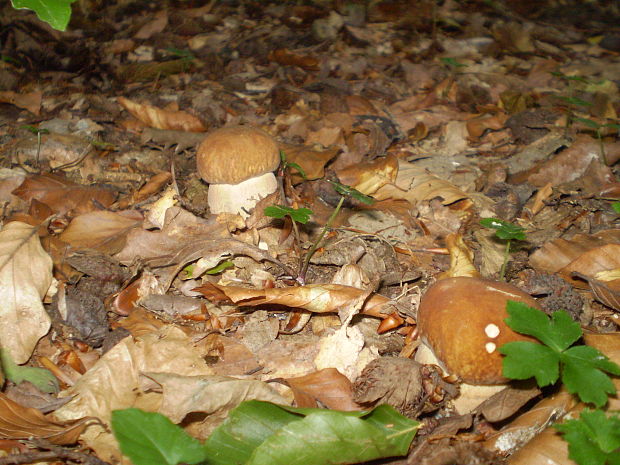
M239 184L274 171L280 164L278 144L264 131L231 126L211 131L198 146L198 174L209 184Z

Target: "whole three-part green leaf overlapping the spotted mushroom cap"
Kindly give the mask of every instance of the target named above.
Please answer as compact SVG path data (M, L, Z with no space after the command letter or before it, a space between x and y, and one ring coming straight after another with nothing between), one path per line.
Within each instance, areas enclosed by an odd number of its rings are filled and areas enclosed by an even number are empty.
M506 310L508 326L542 344L522 341L501 346L499 351L506 356L503 360L505 377L533 377L540 387L554 384L561 378L568 392L596 407L605 405L607 396L616 393L606 373L618 376L620 366L594 347L573 345L583 332L566 311L553 312L550 319L540 310L513 301L508 302Z

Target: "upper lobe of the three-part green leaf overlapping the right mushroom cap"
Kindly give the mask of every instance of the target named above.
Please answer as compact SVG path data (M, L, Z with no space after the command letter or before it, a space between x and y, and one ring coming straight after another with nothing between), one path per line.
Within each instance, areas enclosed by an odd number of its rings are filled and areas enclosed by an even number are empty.
M506 323L521 334L533 336L555 351L562 351L575 343L582 335L579 323L572 320L564 310L553 312L551 320L542 311L528 307L522 302L508 301Z

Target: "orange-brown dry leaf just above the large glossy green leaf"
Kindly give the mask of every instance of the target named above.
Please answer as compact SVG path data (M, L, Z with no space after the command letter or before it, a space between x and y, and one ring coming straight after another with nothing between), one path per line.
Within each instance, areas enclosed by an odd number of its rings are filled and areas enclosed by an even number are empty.
M324 368L282 381L293 391L297 407L318 407L320 402L335 410L361 410L353 401L351 381L335 368Z

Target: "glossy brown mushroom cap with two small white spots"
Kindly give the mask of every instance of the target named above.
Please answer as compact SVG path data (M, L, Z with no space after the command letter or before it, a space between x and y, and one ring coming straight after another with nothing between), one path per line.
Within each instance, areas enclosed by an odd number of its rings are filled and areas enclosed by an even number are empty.
M507 342L532 340L504 322L509 300L539 308L530 295L507 283L469 277L438 281L420 301L420 336L448 372L466 383L505 383L497 349Z

